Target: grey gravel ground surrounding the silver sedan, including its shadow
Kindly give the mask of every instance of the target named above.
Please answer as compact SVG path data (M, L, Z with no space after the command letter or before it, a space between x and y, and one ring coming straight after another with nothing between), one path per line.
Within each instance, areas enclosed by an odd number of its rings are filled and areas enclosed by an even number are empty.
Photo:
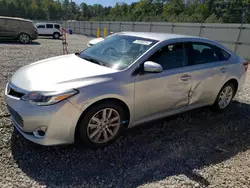
M69 36L69 51L88 40ZM223 113L202 108L149 123L98 150L43 147L13 130L3 90L19 67L62 54L61 41L0 43L0 52L0 187L250 187L250 77Z

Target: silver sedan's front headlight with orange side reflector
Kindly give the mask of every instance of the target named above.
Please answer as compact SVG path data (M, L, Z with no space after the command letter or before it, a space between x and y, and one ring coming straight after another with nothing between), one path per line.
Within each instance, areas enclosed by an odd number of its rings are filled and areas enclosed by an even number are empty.
M56 104L62 100L65 100L75 94L77 90L70 90L64 92L39 92L33 91L25 94L21 100L30 101L31 103L38 106L46 106Z

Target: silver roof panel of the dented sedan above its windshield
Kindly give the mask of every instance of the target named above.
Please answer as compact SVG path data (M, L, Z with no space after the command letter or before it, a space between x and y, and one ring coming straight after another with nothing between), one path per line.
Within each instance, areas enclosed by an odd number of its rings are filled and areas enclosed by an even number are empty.
M130 36L135 36L135 37L143 37L143 38L148 38L152 40L158 40L158 41L163 41L163 40L168 40L168 39L180 39L180 38L188 38L188 39L205 39L202 37L196 37L196 36L188 36L188 35L179 35L179 34L172 34L172 33L152 33L152 32L120 32L117 34L122 34L122 35L130 35Z

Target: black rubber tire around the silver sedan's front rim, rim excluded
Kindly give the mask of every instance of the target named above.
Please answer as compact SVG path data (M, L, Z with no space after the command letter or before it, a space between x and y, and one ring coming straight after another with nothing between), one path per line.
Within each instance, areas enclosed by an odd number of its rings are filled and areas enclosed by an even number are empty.
M81 139L81 141L89 148L100 148L100 147L104 147L108 144L110 144L111 142L113 142L114 140L116 140L116 138L118 138L121 133L124 131L124 126L121 124L120 127L119 127L119 130L117 131L117 134L111 139L109 140L108 142L106 143L101 143L101 144L98 144L98 143L94 143L92 142L89 138L88 138L88 134L87 134L87 126L88 126L88 123L90 121L90 119L92 118L92 116L104 109L104 108L113 108L115 109L119 115L120 115L120 119L121 121L124 120L125 118L125 113L124 113L124 110L117 104L112 104L112 103L101 103L101 104L98 104L98 105L94 105L93 107L91 107L87 113L84 113L82 115L82 117L80 118L79 122L78 122L78 131L79 131L79 137Z

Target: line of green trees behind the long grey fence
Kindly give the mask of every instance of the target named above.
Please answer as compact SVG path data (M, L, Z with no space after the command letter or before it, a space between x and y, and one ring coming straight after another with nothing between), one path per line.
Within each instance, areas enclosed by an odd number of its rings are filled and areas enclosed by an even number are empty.
M0 0L0 15L32 20L250 23L250 0L140 0L114 7L69 0Z

